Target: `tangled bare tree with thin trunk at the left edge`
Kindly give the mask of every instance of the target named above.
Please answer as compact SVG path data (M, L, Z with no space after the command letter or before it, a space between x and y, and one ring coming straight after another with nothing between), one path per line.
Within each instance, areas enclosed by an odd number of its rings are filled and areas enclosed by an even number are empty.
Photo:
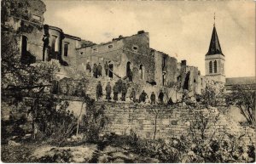
M2 32L1 94L6 98L14 98L16 105L22 102L26 96L33 97L31 110L24 110L23 112L32 113L33 120L38 120L39 116L36 111L41 110L38 109L38 97L44 94L44 88L51 86L51 81L58 67L49 63L37 62L32 64L22 60L18 44L19 37L20 34L12 31ZM33 133L35 123L32 122Z

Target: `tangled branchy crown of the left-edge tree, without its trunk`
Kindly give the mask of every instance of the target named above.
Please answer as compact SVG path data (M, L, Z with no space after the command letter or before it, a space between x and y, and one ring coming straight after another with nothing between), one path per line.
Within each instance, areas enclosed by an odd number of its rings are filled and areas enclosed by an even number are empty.
M9 91L19 95L21 91L28 93L34 88L49 86L53 73L58 70L57 66L49 63L22 62L17 36L12 33L2 33L1 46L2 94Z

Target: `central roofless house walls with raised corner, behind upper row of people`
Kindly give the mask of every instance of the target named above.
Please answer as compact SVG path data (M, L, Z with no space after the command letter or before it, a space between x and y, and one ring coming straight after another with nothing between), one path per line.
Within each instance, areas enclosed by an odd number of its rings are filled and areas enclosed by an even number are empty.
M133 49L137 47L137 49ZM110 62L113 65L114 74L119 77L127 76L127 65L130 63L133 71L133 81L143 80L144 82L154 82L154 56L149 54L148 33L144 32L131 37L119 37L112 42L101 43L87 48L79 48L77 53L77 66L79 71L85 71L86 63L90 62L92 68L94 64L101 63L102 76L105 75L104 64ZM140 69L141 68L141 69ZM92 72L88 73L92 76ZM113 75L113 79L119 77Z

